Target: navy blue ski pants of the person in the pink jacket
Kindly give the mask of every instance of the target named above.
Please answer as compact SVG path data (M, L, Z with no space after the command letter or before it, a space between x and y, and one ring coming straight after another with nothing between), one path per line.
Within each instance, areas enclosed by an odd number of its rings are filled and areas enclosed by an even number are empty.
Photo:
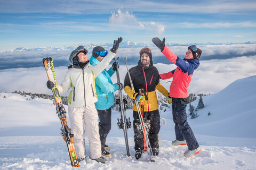
M195 135L187 121L186 99L173 98L172 116L175 123L176 140L186 140L188 149L194 150L199 147Z

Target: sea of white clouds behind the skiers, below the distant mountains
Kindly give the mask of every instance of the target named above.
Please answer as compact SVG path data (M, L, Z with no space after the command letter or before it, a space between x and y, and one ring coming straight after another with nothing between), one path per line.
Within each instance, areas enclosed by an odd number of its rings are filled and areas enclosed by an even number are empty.
M250 77L256 75L256 55L248 55L250 52L255 51L255 45L222 45L222 46L202 46L203 50L202 57L207 58L207 55L216 56L225 55L228 53L234 54L231 58L218 58L214 60L205 59L201 60L201 64L198 69L194 72L193 79L191 81L189 92L199 94L209 94L215 93L226 86L229 83L242 79L245 77ZM170 47L174 54L184 56L187 47L177 46ZM140 48L121 48L118 50L117 56L126 56L127 62L129 63L129 68L137 65L139 61L139 50ZM154 65L157 67L159 73L169 72L175 69L175 65L170 61L165 61L164 63L159 63L157 60L164 60L165 56L161 55L157 47L152 48ZM18 69L4 69L0 70L0 92L13 92L14 90L33 92L33 93L45 93L51 94L51 91L46 88L47 76L44 67L41 66L42 58L45 54L53 55L54 63L59 63L59 65L68 65L68 55L70 52L33 52L34 58L31 58L31 54L25 53L22 57L18 58L17 53L13 55L0 56L1 61L11 62L12 64L19 64L26 62L26 57L31 65L33 63L39 62L40 64L36 67L18 68ZM57 53L57 54L56 54ZM59 53L59 54L58 54ZM11 54L11 53L9 53ZM18 53L19 54L19 53ZM19 55L21 55L20 53ZM36 54L36 55L35 55ZM89 50L91 54L91 49ZM236 55L235 55L236 54ZM27 55L27 56L26 56ZM30 55L30 56L29 56ZM158 56L159 57L156 57ZM203 56L204 55L204 56ZM162 59L161 59L162 58ZM18 62L15 62L18 60ZM28 61L28 60L27 60ZM67 64L61 64L61 62L66 61ZM119 59L119 63L122 63L122 59ZM57 80L60 83L63 80L64 74L67 71L66 66L55 66L55 72L57 75ZM110 67L109 65L108 67ZM126 67L121 65L119 68L121 81L124 81L126 74ZM113 82L116 82L116 75L112 77ZM170 80L161 80L161 83L166 89L169 90ZM242 88L242 87L241 87Z

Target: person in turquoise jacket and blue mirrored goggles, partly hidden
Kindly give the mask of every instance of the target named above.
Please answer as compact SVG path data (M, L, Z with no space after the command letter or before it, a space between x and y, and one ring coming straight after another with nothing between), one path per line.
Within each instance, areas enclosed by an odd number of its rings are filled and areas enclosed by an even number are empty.
M90 58L90 64L96 65L100 63L103 58L108 54L108 51L101 46L94 47L92 50L92 56ZM106 145L106 138L111 129L111 106L114 105L115 97L113 92L123 88L122 83L113 84L111 76L116 71L116 63L114 62L112 67L107 71L103 70L97 78L95 78L95 88L98 96L98 101L95 107L99 115L99 133L101 141L101 152L103 156L111 158L111 154L108 151L109 147Z

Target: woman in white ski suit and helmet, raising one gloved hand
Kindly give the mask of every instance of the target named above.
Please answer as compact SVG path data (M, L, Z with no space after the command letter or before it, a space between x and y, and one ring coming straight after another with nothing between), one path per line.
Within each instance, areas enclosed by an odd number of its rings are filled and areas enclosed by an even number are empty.
M68 97L68 114L71 129L74 133L74 146L81 165L86 164L86 151L84 140L84 126L89 139L90 158L97 162L106 163L101 156L101 143L99 136L98 113L94 103L98 101L95 90L95 78L100 74L116 55L116 50L122 37L114 41L113 48L105 59L97 65L91 65L87 60L87 50L83 46L77 47L69 56L73 64L66 72L64 80L58 85L61 94L71 87ZM47 81L47 88L54 87L53 82Z

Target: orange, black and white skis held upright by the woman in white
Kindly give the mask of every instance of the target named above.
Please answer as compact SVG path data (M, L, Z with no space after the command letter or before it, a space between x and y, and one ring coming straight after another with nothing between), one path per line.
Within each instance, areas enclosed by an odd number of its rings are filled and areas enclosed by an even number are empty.
M72 134L71 129L68 128L67 115L66 115L65 108L62 105L60 92L57 87L57 79L55 77L55 71L54 71L52 58L51 57L43 58L43 64L44 64L48 79L55 84L55 86L52 88L52 93L53 93L55 103L56 103L56 111L57 111L57 114L58 114L58 116L60 118L60 122L61 122L61 135L63 137L63 140L67 143L68 154L69 154L71 165L73 167L78 167L80 165L79 165L76 151L75 151L75 148L73 145L74 134Z

